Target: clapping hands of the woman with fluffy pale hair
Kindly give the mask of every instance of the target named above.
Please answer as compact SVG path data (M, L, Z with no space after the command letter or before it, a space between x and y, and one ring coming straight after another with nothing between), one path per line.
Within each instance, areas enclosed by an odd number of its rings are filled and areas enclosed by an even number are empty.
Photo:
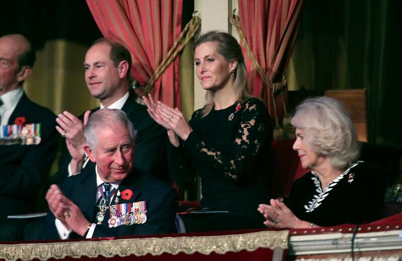
M283 202L271 199L270 203L271 205L260 204L257 209L266 219L264 225L272 228L300 228L303 221L298 219Z

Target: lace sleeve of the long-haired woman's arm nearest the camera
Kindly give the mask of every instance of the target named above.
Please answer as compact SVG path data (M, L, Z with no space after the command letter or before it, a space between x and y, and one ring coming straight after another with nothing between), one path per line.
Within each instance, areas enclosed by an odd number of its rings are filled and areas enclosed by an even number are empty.
M260 147L270 140L270 121L262 101L251 98L242 104L241 117L230 153L222 153L214 144L206 144L194 132L184 142L184 148L194 161L210 164L217 169L217 175L224 175L233 182L238 182L255 163Z

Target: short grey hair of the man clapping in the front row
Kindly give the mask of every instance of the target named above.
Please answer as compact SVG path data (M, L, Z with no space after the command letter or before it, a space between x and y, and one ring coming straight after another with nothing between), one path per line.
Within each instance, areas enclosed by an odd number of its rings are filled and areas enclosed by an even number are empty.
M101 129L114 129L117 126L125 126L128 128L130 138L133 144L137 139L137 134L133 123L129 120L126 113L120 109L103 108L93 112L88 119L84 128L84 136L86 143L94 152L98 144L98 132Z

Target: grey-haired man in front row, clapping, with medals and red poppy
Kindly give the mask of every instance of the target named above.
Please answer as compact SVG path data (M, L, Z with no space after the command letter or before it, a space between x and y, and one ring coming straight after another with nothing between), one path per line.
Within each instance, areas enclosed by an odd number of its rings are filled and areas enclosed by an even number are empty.
M84 136L84 151L96 165L50 187L45 238L175 232L175 191L133 168L136 134L126 114L97 110Z

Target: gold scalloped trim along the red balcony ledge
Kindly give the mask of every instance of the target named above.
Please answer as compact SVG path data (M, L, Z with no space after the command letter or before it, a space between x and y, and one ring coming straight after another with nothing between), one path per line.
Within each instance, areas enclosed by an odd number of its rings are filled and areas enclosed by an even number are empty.
M178 254L184 252L192 254L200 252L210 254L216 252L224 254L228 251L254 251L259 247L287 249L288 230L260 231L245 234L231 234L218 236L180 236L180 237L149 237L128 238L99 241L30 243L30 244L0 244L0 258L8 261L17 259L31 260L38 258L47 260L51 257L61 259L66 256L79 258L81 256L96 257L103 255L128 256L161 255L162 253Z

